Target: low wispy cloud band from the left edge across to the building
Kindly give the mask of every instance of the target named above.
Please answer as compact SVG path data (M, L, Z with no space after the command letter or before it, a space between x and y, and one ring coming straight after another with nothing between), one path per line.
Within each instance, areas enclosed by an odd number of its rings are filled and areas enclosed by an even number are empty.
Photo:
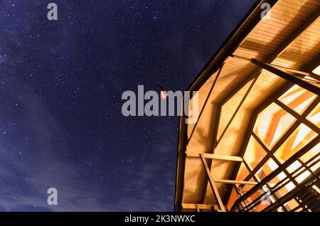
M176 153L175 139L169 126L160 126L167 134L155 146L154 158L142 164L137 171L128 172L124 183L130 190L139 190L139 195L114 192L112 186L99 180L83 181L83 172L68 159L70 149L65 141L66 132L58 118L47 107L45 99L34 94L23 83L14 85L6 97L23 97L19 108L23 112L16 124L24 123L19 131L6 131L0 136L0 210L44 210L44 211L166 211L171 210L173 195L164 193L174 188L172 171L175 166L168 156ZM2 112L4 109L2 109ZM7 112L8 113L8 112ZM23 129L24 128L24 129ZM32 134L32 136L31 136ZM23 136L24 135L24 136ZM13 146L14 139L32 139L26 146ZM23 145L23 141L20 141ZM30 145L30 146L28 146ZM21 152L22 151L22 152ZM21 154L19 154L21 152ZM167 173L164 173L164 168ZM119 179L121 180L121 179ZM161 183L159 183L159 180ZM158 181L158 182L157 182ZM58 189L58 205L46 203L48 188ZM115 197L110 197L116 193Z

